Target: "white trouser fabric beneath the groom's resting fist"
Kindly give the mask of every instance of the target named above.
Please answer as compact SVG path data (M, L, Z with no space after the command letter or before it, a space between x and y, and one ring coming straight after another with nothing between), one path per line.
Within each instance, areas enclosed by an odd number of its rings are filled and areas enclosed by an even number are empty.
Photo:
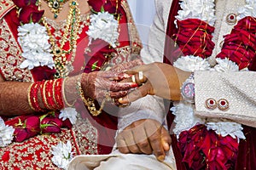
M166 154L163 162L154 155L121 154L113 150L110 155L76 156L69 163L68 170L175 170L175 158L172 150Z

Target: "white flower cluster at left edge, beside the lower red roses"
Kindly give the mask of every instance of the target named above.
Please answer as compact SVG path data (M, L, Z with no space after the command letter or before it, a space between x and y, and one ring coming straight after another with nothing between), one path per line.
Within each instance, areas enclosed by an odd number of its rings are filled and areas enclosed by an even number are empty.
M12 142L14 132L15 128L5 125L0 117L0 147L4 147Z

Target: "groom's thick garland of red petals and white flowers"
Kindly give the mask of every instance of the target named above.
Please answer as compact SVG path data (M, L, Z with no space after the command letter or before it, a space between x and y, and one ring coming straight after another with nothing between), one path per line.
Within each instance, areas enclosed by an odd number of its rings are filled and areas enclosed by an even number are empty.
M180 56L173 65L183 71L247 71L255 66L256 1L247 0L239 9L237 24L224 36L221 52L212 66L214 42L214 0L183 0L176 16L178 33L174 40ZM191 36L191 32L193 34ZM171 108L175 115L177 135L183 161L192 169L229 169L234 167L239 139L245 139L241 124L224 119L202 118L194 115L195 105L185 100Z

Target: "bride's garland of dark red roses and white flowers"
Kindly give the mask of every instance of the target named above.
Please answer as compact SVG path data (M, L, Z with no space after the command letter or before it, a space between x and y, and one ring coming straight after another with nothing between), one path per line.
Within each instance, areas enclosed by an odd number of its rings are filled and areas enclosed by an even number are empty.
M38 9L38 0L13 0L13 2L19 12L18 42L24 58L20 68L32 70L38 66L48 66L53 70L55 68L54 54L46 27L41 22L44 10ZM89 30L86 31L90 39L88 46L93 47L92 42L101 39L112 48L116 48L119 38L118 7L120 1L89 0L88 3L92 11ZM73 126L77 114L74 108L68 107L60 112L51 111L38 116L19 116L6 122L0 116L0 147L5 147L14 141L22 142L38 133L60 133L61 127L71 128ZM67 141L67 144L60 143L53 146L52 154L52 161L55 165L65 169L73 158L70 141Z

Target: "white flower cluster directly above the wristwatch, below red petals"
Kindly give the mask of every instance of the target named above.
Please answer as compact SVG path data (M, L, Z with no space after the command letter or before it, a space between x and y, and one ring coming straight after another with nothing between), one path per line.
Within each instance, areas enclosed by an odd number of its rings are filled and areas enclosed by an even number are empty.
M182 56L178 58L173 66L183 70L183 71L208 71L210 70L210 65L207 59L202 59L201 57L195 57L194 55Z

